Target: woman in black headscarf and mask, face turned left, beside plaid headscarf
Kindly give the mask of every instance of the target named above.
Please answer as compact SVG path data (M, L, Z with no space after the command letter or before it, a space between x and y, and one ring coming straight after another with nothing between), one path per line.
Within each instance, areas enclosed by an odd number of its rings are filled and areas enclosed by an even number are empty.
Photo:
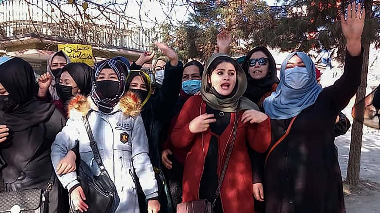
M59 84L55 85L60 99L55 100L56 107L67 117L67 105L77 94L88 96L91 92L92 69L84 63L71 63L62 68Z

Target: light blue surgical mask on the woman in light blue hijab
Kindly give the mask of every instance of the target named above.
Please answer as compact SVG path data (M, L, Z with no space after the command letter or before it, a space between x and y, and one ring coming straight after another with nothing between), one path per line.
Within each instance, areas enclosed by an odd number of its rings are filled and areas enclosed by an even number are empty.
M301 89L310 80L306 67L293 67L285 69L285 83L293 89Z

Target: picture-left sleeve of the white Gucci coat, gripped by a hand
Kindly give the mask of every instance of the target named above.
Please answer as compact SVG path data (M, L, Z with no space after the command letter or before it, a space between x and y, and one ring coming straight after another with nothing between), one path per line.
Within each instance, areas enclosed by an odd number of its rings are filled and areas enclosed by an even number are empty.
M55 172L57 172L57 166L60 160L62 160L67 155L68 151L73 149L79 142L79 132L76 128L78 127L78 124L78 121L69 119L66 126L63 127L62 131L55 137L50 154ZM79 184L76 171L64 175L57 174L57 177L62 185L68 190L74 185Z

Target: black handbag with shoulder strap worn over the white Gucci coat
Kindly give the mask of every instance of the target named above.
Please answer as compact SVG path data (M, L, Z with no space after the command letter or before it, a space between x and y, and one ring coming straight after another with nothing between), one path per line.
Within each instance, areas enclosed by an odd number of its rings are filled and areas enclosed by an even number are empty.
M90 146L95 161L100 169L99 175L92 175L89 166L82 160L77 169L78 181L86 195L85 202L89 206L87 213L109 213L114 210L114 206L116 205L115 200L119 200L116 187L100 158L97 143L93 137L87 116L83 117L83 122L89 135ZM70 204L71 210L74 211L71 202Z

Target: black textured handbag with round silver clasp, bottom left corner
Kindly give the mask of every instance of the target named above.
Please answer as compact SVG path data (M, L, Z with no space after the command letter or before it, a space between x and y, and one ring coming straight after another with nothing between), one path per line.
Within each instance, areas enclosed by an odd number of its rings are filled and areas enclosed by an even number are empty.
M49 192L55 181L55 172L47 183L46 189L26 189L2 191L0 193L0 213L48 213Z

